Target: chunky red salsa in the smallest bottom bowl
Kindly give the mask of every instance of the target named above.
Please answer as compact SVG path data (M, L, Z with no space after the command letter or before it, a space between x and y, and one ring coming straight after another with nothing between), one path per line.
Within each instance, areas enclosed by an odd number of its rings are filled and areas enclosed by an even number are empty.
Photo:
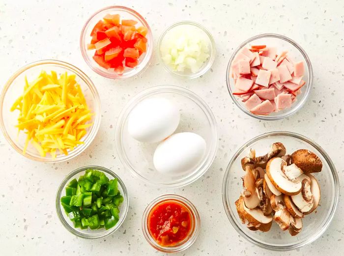
M193 220L190 210L176 201L155 205L148 215L148 230L161 246L174 246L190 233Z

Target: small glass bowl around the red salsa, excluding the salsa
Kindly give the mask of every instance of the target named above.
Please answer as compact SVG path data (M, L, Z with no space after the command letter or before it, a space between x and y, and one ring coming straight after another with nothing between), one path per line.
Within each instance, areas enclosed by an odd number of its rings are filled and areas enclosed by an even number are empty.
M151 236L148 228L148 216L150 211L153 209L154 206L167 201L176 202L186 207L189 210L191 218L193 220L193 226L189 235L183 241L171 247L159 245ZM200 228L201 219L196 207L188 199L177 195L164 195L154 199L145 208L142 216L142 231L144 238L155 250L164 253L176 253L188 249L196 241L200 233Z

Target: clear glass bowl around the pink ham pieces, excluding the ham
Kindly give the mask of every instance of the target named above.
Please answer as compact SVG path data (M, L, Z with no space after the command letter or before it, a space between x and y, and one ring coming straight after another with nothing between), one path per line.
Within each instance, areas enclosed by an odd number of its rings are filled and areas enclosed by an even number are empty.
M230 66L237 55L237 53L245 46L248 45L261 45L264 44L266 46L273 46L277 47L277 50L287 50L289 56L295 61L304 61L305 65L305 75L303 80L306 81L306 84L301 88L302 93L297 95L296 101L292 103L290 108L285 110L281 110L279 112L273 112L269 115L258 115L253 114L249 110L246 109L245 104L240 100L240 98L233 95L234 89L234 80L230 77ZM260 34L254 37L247 39L245 42L239 45L239 47L234 51L233 55L229 59L229 63L227 66L227 73L226 73L226 81L227 81L227 88L229 91L229 95L234 101L235 105L239 107L244 113L258 118L260 120L279 120L285 118L291 114L294 114L296 111L302 108L305 104L308 95L310 93L311 87L313 85L313 69L312 64L307 56L306 52L302 49L300 45L298 45L295 41L291 40L287 36L279 35L279 34Z

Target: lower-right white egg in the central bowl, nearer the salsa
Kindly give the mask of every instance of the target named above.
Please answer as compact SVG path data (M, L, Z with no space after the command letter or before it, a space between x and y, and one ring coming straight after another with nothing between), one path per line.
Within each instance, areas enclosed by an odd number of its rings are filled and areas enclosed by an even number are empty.
M206 142L190 132L176 133L160 142L154 152L153 164L157 171L166 174L183 174L193 171L202 161Z

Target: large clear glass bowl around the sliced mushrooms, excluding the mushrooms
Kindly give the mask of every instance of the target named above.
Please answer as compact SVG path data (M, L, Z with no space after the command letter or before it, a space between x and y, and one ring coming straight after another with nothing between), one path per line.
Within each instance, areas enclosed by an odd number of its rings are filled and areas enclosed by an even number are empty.
M241 158L247 156L250 148L255 149L257 155L265 154L266 150L274 142L282 142L289 154L302 148L311 150L320 157L323 163L322 171L314 173L320 185L320 204L315 212L302 219L303 228L296 236L290 236L288 231L283 232L274 221L268 232L249 230L246 225L241 223L234 203L239 198L242 190L240 178L244 172L240 163ZM333 219L338 204L338 197L338 174L329 156L312 140L291 132L270 132L246 142L230 160L222 185L222 199L232 226L241 236L254 245L273 251L294 250L308 245L319 238Z

